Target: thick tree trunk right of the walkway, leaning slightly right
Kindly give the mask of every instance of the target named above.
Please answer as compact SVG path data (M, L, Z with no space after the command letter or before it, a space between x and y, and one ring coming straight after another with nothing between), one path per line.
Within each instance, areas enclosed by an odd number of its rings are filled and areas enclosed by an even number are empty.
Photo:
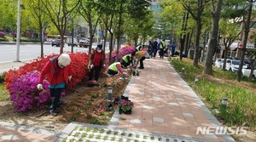
M212 5L214 5L213 2L212 2ZM217 45L218 21L219 21L219 15L221 11L221 5L222 5L222 0L218 0L216 11L212 13L212 33L210 37L209 47L207 50L207 60L206 60L204 71L203 71L203 73L207 75L212 75L212 54L214 54L214 51Z

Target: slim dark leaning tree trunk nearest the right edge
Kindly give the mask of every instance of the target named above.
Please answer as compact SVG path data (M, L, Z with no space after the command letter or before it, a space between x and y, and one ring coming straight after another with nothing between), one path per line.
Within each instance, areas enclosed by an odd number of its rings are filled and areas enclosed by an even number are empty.
M236 80L238 82L241 81L241 69L242 69L242 65L243 65L243 62L244 62L244 56L245 56L246 49L247 49L247 38L248 38L249 31L250 31L250 22L251 22L252 9L253 9L253 0L250 0L249 3L250 3L250 6L248 8L247 21L245 23L244 37L243 37L243 40L242 40L241 60L240 60L240 65L239 65L239 69L237 71L237 77L236 77Z

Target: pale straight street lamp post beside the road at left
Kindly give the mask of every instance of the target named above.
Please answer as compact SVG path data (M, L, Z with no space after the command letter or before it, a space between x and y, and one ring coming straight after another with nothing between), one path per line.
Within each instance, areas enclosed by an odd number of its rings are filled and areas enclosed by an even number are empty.
M16 34L16 61L20 62L20 16L21 16L21 9L20 9L20 2L18 0L18 17L17 17L17 34Z

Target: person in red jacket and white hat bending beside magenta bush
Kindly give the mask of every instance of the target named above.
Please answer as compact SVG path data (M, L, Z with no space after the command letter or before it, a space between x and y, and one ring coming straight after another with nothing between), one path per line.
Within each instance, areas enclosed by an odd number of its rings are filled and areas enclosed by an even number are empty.
M56 116L56 109L59 106L59 102L61 99L61 92L67 85L67 82L71 80L69 65L71 59L68 54L61 54L59 56L55 56L44 65L44 68L39 77L39 83L37 88L39 90L43 88L44 77L47 77L47 81L49 82L49 91L50 96L53 97L51 106L50 106L50 114L52 116Z

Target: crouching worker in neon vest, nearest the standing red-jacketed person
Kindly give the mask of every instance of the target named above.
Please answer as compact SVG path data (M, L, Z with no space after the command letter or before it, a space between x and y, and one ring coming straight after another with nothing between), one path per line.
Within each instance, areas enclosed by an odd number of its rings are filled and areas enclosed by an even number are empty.
M115 76L118 73L122 74L122 76L121 76L122 78L126 77L125 71L123 71L120 62L114 62L113 64L108 66L108 71L107 71L108 77Z

